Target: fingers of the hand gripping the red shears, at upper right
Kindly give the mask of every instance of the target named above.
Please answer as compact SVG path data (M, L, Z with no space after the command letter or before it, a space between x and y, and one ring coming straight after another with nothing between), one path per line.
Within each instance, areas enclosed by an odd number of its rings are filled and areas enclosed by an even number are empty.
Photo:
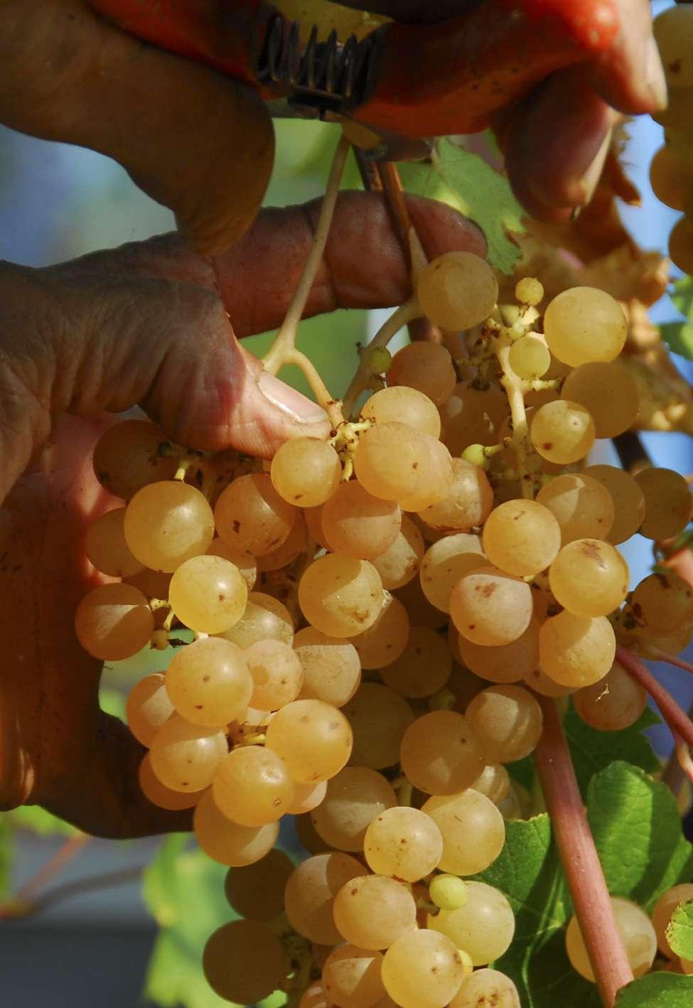
M585 0L565 0L583 4ZM399 21L431 23L479 0L343 0ZM561 222L584 206L601 173L611 129L626 115L666 105L667 89L652 35L648 0L617 0L620 31L590 64L558 71L522 101L499 112L494 128L513 188L534 217Z

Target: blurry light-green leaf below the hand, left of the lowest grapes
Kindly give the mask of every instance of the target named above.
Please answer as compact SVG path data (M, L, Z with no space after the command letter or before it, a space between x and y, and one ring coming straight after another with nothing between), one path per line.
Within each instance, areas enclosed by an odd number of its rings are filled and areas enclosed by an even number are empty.
M191 847L187 835L172 834L144 871L142 895L160 927L144 995L162 1008L234 1008L215 994L201 969L206 939L238 916L224 895L227 870ZM258 1008L277 1008L285 1001L278 992Z

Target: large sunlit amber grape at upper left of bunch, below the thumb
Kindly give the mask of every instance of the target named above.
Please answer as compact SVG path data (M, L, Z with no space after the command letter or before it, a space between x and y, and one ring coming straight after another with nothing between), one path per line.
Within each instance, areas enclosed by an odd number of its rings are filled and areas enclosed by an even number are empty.
M141 563L170 574L191 556L206 552L215 519L199 490L167 480L138 490L127 506L123 530Z

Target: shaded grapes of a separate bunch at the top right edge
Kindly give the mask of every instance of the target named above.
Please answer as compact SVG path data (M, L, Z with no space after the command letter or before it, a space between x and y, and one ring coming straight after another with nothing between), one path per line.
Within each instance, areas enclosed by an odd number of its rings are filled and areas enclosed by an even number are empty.
M665 10L654 29L669 104L654 117L664 126L666 143L652 160L650 181L662 203L683 211L669 238L669 255L680 270L693 273L693 8Z

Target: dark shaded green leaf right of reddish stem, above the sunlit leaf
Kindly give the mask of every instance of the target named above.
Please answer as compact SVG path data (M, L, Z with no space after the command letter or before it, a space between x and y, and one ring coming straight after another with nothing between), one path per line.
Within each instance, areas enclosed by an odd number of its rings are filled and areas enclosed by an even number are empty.
M643 734L646 728L659 724L659 719L646 708L639 720L621 732L597 732L590 728L571 707L565 719L565 734L575 767L577 782L584 798L592 776L614 760L626 760L648 773L660 769L660 761L650 740Z

